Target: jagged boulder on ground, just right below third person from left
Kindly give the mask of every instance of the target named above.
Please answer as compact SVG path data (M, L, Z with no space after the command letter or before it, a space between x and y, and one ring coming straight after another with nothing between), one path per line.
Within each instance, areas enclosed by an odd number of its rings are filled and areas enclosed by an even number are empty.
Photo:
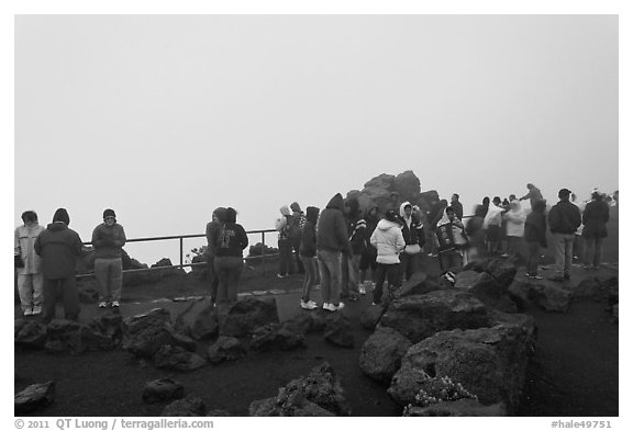
M155 308L147 314L123 320L122 348L136 356L152 358L162 345L180 345L193 351L197 344L174 330L169 310Z

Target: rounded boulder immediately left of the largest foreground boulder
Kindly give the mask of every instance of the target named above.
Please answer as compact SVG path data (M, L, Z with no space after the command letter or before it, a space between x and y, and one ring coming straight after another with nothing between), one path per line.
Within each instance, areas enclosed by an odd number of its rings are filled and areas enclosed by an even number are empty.
M363 373L382 383L389 383L411 341L391 328L378 328L360 349L359 365Z

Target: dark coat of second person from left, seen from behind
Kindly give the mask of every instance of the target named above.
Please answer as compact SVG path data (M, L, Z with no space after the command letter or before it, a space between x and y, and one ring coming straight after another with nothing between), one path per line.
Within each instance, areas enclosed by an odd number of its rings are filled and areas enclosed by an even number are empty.
M35 240L35 252L42 258L46 279L75 276L77 258L81 254L79 234L64 223L52 223Z

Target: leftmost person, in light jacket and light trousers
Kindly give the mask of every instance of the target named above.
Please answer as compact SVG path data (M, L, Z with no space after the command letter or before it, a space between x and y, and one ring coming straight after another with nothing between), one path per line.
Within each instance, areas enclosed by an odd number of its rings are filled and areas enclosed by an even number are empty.
M22 213L23 226L15 228L13 253L22 265L18 268L18 292L24 316L42 314L44 277L42 275L42 259L35 253L35 240L44 230L37 223L34 211Z

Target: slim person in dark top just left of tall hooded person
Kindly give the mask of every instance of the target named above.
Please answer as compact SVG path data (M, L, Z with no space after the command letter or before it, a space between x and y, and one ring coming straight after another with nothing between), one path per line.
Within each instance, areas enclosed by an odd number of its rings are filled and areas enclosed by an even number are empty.
M306 277L303 279L303 294L299 306L303 309L314 309L316 303L310 299L312 286L316 284L319 263L316 262L316 220L319 219L319 208L309 206L306 208L306 224L301 231L301 245L299 256L303 261Z

